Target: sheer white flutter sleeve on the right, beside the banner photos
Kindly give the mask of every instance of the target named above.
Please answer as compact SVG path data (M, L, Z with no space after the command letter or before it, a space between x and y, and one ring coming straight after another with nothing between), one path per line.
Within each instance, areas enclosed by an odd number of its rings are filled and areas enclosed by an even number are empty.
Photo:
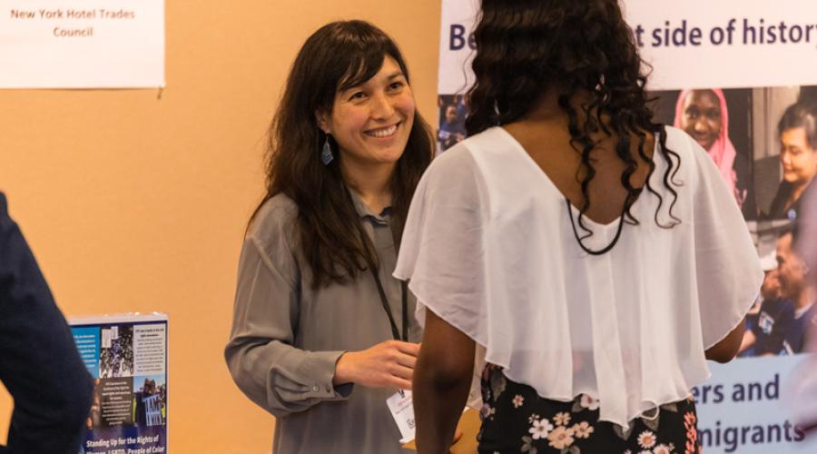
M704 149L692 146L695 273L704 349L709 349L743 321L763 271L732 193Z

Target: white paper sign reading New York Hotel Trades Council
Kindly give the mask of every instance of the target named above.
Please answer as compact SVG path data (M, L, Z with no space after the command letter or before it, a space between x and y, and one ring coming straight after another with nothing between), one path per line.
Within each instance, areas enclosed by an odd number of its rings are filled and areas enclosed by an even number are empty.
M162 86L163 0L0 2L0 88Z

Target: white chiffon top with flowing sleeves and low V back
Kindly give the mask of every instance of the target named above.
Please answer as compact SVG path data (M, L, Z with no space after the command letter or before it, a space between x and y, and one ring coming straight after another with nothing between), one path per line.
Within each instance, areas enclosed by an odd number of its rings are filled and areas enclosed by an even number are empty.
M667 148L680 156L672 213L681 223L658 226L659 198L644 191L631 209L640 224L625 224L599 256L576 242L568 216L577 221L578 210L568 212L504 129L440 155L418 185L394 272L418 298L418 321L434 311L508 379L551 400L587 394L599 400L601 420L625 428L689 396L710 376L704 350L743 321L763 271L714 163L685 133L666 129ZM673 196L655 142L650 182L666 224ZM591 250L618 227L585 223Z

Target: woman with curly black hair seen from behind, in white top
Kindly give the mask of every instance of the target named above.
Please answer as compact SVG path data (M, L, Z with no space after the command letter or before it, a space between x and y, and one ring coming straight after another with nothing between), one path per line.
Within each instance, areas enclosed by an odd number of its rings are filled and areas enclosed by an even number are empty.
M417 443L482 377L480 452L694 452L694 385L763 280L704 149L652 121L616 0L482 0L470 137L430 165L395 275L425 322ZM476 353L476 354L475 354Z

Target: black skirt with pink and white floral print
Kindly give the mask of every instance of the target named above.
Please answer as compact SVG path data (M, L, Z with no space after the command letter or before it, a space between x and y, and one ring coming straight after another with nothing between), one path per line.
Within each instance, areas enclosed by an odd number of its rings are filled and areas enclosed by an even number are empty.
M662 405L655 416L635 419L626 432L598 420L598 401L578 396L572 402L542 399L536 390L508 380L502 369L482 373L480 454L697 454L694 400Z

